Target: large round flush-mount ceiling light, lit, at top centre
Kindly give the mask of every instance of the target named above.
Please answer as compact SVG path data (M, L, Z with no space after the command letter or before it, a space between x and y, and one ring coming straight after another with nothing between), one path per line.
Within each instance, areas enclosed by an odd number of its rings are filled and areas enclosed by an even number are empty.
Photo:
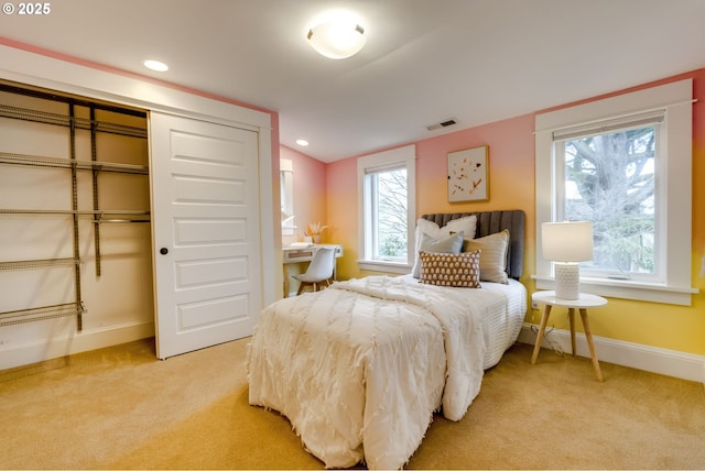
M306 39L318 54L343 59L354 56L365 46L365 29L350 13L336 12L315 22Z

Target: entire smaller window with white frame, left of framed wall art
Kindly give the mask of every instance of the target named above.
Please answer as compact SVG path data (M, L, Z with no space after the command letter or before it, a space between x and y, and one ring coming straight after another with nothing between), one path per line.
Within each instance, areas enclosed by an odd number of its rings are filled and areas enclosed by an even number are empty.
M415 146L358 160L360 267L408 273L413 265Z

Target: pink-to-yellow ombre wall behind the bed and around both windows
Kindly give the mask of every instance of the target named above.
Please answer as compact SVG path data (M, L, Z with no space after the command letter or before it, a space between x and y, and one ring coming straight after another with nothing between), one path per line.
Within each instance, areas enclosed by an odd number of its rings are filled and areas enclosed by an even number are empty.
M705 69L695 70L649 84L640 88L676 79L693 78L693 270L692 285L699 289L692 306L673 306L610 299L609 305L590 313L590 328L596 336L628 342L705 354L705 275L701 259L705 256ZM625 90L631 91L631 90ZM603 98L603 97L595 97ZM416 142L416 212L456 212L494 209L522 209L527 213L524 274L522 282L535 291L531 280L535 264L535 187L534 187L534 116L527 114L457 131ZM478 145L489 145L489 200L471 204L449 204L446 196L447 153ZM357 157L326 166L326 200L328 238L345 245L345 256L338 264L340 278L360 277L357 266ZM705 270L705 269L703 269ZM534 318L535 317L535 318ZM529 311L528 321L536 321L536 311ZM567 317L555 316L552 322L567 329ZM578 322L579 324L579 322Z

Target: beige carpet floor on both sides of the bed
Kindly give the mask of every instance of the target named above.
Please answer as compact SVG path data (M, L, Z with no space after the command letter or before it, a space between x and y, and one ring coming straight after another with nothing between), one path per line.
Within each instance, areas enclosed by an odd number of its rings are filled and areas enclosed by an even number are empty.
M242 339L166 361L153 339L0 371L2 469L322 469L248 405ZM599 352L598 352L599 354ZM409 469L705 469L703 384L512 347Z

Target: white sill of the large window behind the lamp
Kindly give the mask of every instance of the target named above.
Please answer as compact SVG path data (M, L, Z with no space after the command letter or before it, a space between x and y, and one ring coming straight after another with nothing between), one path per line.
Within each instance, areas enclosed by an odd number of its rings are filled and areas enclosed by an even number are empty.
M531 275L539 289L554 289L552 276ZM581 278L581 291L600 296L634 299L650 303L692 305L692 295L699 291L692 287L666 286L655 283L640 283L629 280Z

